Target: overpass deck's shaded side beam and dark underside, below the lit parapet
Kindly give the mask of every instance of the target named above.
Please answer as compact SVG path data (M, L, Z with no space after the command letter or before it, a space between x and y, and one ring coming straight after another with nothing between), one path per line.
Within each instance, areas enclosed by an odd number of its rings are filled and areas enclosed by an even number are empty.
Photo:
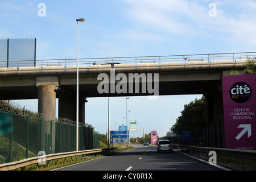
M193 73L159 73L159 96L162 95L180 95L180 94L204 94L210 88L216 85L221 85L222 72L193 72ZM60 95L67 95L76 97L76 76L59 76L56 77L56 98ZM0 89L0 100L22 100L22 99L37 99L38 98L38 77L10 77L6 78ZM126 92L110 93L99 93L97 90L98 84L102 80L97 80L97 75L86 76L81 75L79 78L79 97L121 97L121 96L148 96L156 93L155 84L150 87L153 89L153 93L142 93L142 83L139 84L139 93L129 91L129 84L124 84L127 86ZM153 79L154 81L154 79ZM115 81L115 85L119 80ZM120 82L121 83L121 82ZM120 85L119 83L119 85ZM146 83L147 85L148 83ZM14 86L18 85L18 86ZM51 85L51 84L49 84ZM138 86L138 85L137 85ZM133 88L135 88L133 83ZM116 88L116 87L115 87ZM118 87L120 88L120 87ZM121 87L122 88L122 87ZM138 88L138 87L137 87Z

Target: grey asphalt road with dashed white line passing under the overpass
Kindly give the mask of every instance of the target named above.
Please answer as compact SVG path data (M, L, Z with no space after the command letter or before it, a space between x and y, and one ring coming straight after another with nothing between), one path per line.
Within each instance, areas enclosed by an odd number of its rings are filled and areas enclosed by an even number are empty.
M156 152L156 146L134 145L135 149L89 160L57 171L220 171L208 163L180 154Z

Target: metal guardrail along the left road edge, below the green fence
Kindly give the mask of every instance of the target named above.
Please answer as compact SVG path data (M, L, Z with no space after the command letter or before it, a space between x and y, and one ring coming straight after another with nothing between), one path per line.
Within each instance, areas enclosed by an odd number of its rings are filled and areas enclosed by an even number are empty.
M86 155L86 154L96 154L100 152L119 150L122 148L127 148L127 147L99 148L99 149L93 149L93 150L63 152L63 153L49 154L44 156L36 156L34 158L23 159L17 162L0 164L0 171L10 171L10 170L30 166L31 164L38 164L39 160L42 159L43 157L45 159L44 161L47 162L49 160L62 159L62 158L68 158L72 156L79 156L79 155Z

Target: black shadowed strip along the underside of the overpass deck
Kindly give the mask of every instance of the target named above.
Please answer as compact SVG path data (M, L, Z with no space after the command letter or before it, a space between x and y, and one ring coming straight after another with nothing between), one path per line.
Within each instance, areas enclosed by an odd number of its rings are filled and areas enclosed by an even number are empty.
M182 95L182 94L204 94L213 85L219 84L219 80L212 81L169 81L159 82L159 96L164 95ZM129 87L127 87L129 89ZM141 84L140 84L141 88ZM79 85L79 96L88 97L122 97L122 96L148 96L150 93L98 93L97 85ZM59 98L60 94L74 95L76 93L76 85L60 86L56 90L56 98ZM1 89L0 100L23 100L23 99L37 99L38 87L26 86L23 88L17 88L15 86Z

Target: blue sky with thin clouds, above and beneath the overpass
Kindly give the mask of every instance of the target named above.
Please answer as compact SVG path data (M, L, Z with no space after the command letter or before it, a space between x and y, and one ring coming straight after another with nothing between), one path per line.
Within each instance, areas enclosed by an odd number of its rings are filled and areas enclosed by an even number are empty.
M39 3L46 5L45 16L38 14ZM77 18L85 18L79 23L80 58L253 52L256 46L254 0L1 0L0 39L36 38L36 59L76 58ZM130 97L130 119L163 137L195 98L201 95ZM86 122L105 133L108 99L88 101ZM37 110L37 101L22 102ZM123 123L125 107L125 97L110 98L113 129L115 121Z

